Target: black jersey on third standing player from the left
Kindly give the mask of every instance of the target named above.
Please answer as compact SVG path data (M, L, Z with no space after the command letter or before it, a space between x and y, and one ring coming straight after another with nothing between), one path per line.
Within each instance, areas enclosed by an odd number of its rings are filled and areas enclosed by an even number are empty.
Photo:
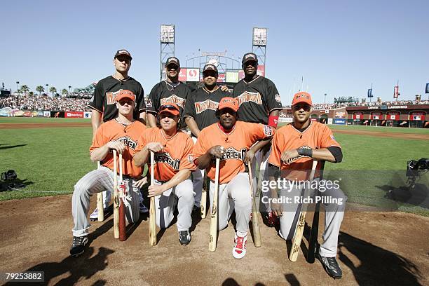
M230 97L231 93L220 88L212 92L205 88L194 90L186 100L183 117L192 117L200 130L217 123L216 109L220 100Z

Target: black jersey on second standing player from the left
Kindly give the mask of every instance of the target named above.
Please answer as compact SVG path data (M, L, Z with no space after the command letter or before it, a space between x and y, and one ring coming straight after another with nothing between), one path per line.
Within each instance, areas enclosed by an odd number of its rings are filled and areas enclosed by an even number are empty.
M181 82L176 84L170 84L167 81L156 83L147 97L147 112L156 115L161 105L172 102L177 104L182 115L186 98L190 93L191 90Z

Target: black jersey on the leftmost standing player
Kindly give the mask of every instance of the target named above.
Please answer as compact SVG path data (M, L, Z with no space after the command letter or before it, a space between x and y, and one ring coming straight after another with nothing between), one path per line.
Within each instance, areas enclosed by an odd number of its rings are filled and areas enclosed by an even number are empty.
M102 119L107 122L118 116L118 109L116 108L115 96L121 90L130 90L135 94L135 111L134 118L138 119L140 112L146 111L144 104L144 91L142 85L128 77L128 79L120 81L113 76L107 76L100 80L95 86L93 98L91 98L88 107L95 109L102 114Z

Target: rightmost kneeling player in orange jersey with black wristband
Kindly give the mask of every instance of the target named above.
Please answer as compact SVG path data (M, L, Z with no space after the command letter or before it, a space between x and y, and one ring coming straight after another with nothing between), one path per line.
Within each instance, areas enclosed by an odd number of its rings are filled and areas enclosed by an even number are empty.
M279 172L281 172L282 178L297 183L308 178L306 170L311 170L313 160L333 163L342 161L341 147L332 135L332 131L327 125L311 121L311 105L310 94L300 92L294 95L292 100L294 122L280 128L273 137L272 151L268 158L271 180L277 180ZM318 172L315 173L315 178L318 178ZM324 242L315 255L322 262L329 275L334 278L341 278L341 268L335 257L347 198L338 185L320 184L320 186L322 185L326 187L319 188L320 198L330 198L336 203L324 204L325 232L322 236ZM305 185L302 184L293 184L292 187L289 184L289 186L282 186L280 190L272 189L271 198L278 198L279 195L291 198L299 197L305 191L304 188ZM336 200L332 200L332 198ZM282 205L271 203L271 209L280 217L280 236L286 240L292 239L297 227L301 205L291 200L290 203Z

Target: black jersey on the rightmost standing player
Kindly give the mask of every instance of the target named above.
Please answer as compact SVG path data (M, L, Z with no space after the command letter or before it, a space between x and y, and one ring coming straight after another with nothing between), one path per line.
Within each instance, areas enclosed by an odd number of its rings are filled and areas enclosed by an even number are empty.
M240 108L238 120L268 124L268 115L276 109L283 109L280 95L275 84L264 76L245 82L238 81L233 89Z

